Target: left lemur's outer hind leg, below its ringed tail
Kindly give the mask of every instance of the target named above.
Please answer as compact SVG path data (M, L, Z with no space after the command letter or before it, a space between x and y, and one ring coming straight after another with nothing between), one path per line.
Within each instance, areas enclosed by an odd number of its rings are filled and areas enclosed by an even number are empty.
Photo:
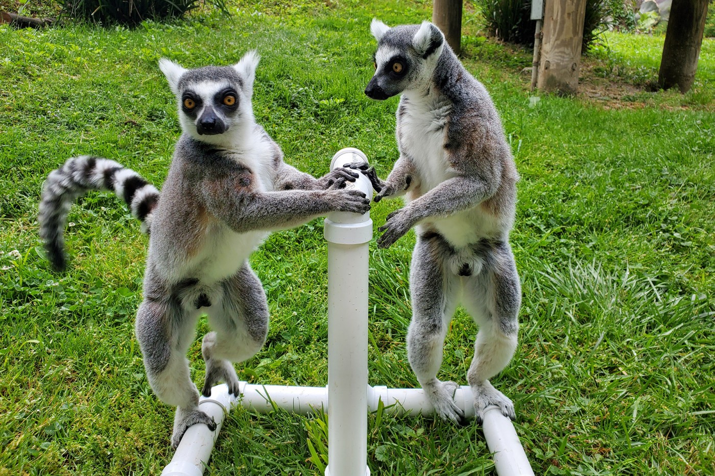
M191 381L186 358L198 317L197 309L184 309L175 299L144 299L137 312L137 339L149 385L159 400L177 407L172 434L174 449L188 427L204 423L211 430L216 428L213 418L199 410L199 391Z

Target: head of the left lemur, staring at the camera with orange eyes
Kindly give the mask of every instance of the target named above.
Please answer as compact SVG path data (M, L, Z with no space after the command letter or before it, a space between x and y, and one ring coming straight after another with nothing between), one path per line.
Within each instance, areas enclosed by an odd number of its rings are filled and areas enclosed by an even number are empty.
M179 104L184 134L215 145L233 144L253 129L253 79L260 57L249 51L233 66L184 69L162 58L159 68Z

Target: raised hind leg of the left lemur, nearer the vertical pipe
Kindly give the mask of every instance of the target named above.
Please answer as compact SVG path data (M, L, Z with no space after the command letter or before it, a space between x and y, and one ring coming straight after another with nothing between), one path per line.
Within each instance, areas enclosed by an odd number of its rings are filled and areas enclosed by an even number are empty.
M238 395L239 385L232 362L253 357L263 347L268 333L268 304L260 280L245 263L221 284L219 302L209 309L209 326L201 351L206 362L202 394L211 395L211 387L226 382Z

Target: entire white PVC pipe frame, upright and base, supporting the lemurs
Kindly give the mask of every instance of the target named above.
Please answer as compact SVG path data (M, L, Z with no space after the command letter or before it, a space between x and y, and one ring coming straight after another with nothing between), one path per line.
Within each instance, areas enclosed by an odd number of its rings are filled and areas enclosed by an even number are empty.
M342 149L332 158L330 169L359 161L367 162L358 149ZM372 197L370 181L360 174L347 187ZM229 395L225 384L213 387L211 397L201 397L199 407L214 417L214 432L194 425L184 434L172 461L162 476L201 476L208 462L225 414L235 405L256 412L281 408L301 415L315 410L328 412L328 467L325 476L370 476L367 465L368 412L380 402L388 414L410 416L434 414L434 407L420 389L391 389L368 385L368 243L373 237L370 214L332 213L325 219L328 242L328 385L295 387L250 385L240 382L241 397ZM470 387L458 387L455 404L466 418L474 417ZM498 407L488 407L483 422L484 437L499 476L533 476L511 420Z

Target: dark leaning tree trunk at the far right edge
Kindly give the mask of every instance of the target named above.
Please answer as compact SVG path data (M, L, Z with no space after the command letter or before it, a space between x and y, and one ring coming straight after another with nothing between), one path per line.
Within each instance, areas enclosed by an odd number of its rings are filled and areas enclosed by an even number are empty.
M681 93L690 91L698 69L708 0L675 0L671 6L666 41L663 45L658 85Z

